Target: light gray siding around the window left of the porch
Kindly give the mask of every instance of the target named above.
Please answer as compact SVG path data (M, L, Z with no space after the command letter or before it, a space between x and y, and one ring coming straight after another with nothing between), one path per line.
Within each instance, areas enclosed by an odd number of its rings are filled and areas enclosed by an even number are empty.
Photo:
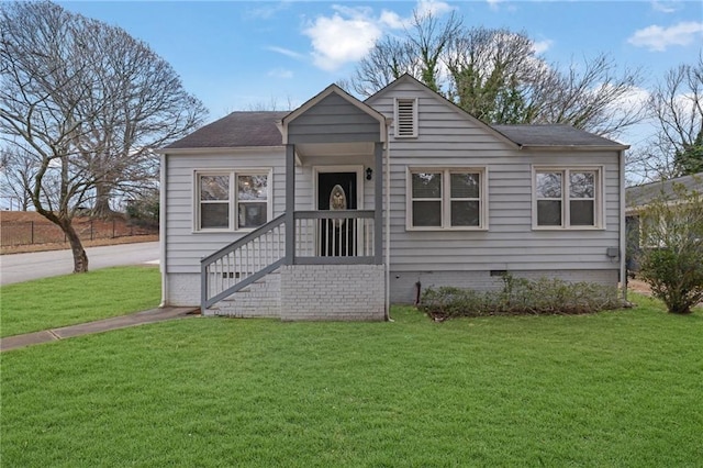
M272 169L272 218L286 211L283 148L232 154L168 155L166 174L166 272L200 272L200 259L246 232L194 232L194 172L202 170Z

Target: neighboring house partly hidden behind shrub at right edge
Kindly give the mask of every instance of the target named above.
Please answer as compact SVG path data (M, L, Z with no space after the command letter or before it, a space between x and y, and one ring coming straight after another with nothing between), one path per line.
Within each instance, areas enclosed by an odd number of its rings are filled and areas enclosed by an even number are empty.
M678 177L674 179L658 180L641 186L625 189L626 200L626 237L627 237L627 269L637 271L636 253L646 247L640 236L641 213L652 202L666 200L667 203L679 203L679 191L698 191L703 193L703 172Z

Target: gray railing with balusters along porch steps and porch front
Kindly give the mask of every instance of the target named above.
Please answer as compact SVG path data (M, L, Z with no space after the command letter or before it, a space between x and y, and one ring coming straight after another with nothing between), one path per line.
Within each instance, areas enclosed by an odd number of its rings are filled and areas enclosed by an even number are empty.
M295 211L292 218L292 227L281 214L200 260L203 311L272 272L287 259L299 265L378 261L373 210ZM286 243L289 229L294 229L292 253L287 252L291 247Z

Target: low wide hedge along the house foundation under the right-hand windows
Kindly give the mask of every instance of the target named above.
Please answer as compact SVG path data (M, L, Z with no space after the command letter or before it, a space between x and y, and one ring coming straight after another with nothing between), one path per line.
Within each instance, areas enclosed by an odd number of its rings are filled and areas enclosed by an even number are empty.
M428 288L417 308L436 321L458 316L582 314L626 307L616 288L558 278L503 277L500 291Z

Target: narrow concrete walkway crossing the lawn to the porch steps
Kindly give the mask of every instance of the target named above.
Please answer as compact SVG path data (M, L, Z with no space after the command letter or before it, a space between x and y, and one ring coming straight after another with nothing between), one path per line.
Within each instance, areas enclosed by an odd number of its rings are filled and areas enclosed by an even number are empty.
M74 336L91 333L108 332L110 330L126 328L127 326L143 323L163 322L166 320L181 319L187 315L200 313L198 308L163 308L137 312L130 315L113 316L97 322L79 323L77 325L63 326L60 328L45 330L43 332L27 333L0 338L0 352L21 348L40 343L71 338Z

